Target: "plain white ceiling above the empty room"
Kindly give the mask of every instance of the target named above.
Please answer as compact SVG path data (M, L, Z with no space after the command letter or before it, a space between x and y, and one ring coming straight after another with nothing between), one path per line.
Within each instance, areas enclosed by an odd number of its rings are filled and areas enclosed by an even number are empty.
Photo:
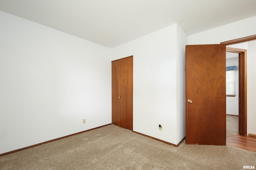
M0 10L112 48L174 23L192 35L256 16L256 0L0 0Z

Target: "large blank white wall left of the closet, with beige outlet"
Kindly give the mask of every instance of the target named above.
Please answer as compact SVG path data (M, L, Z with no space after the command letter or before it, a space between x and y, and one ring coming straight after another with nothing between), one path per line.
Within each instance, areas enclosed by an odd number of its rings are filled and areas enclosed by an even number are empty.
M2 11L0 25L0 154L111 123L111 49Z

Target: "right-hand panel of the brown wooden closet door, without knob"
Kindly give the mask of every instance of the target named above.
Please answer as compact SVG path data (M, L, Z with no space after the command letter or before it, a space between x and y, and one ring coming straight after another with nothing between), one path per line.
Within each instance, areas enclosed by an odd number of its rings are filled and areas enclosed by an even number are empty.
M121 127L132 130L133 57L121 60Z

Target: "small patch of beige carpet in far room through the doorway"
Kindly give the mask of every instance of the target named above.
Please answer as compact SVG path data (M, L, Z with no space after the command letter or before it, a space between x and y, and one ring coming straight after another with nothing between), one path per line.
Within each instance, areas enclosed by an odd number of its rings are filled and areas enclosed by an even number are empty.
M226 137L238 134L238 116L226 115Z

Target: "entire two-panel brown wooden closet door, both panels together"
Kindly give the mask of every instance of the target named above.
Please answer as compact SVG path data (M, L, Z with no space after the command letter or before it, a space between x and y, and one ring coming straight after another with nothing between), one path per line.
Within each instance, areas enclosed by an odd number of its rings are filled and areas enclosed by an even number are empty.
M112 61L112 123L133 130L133 57Z

